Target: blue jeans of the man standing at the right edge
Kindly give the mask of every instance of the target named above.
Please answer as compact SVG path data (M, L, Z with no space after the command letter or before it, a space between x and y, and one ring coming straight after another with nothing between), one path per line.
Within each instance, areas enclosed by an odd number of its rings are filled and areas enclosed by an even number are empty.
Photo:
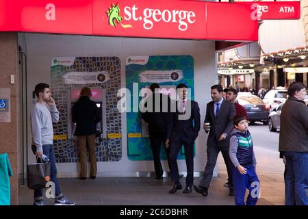
M287 160L285 205L308 205L308 153L283 152Z

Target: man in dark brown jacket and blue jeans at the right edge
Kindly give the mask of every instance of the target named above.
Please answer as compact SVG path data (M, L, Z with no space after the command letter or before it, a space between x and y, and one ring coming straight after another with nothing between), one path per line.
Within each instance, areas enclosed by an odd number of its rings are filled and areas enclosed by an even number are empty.
M289 98L280 116L279 151L286 159L285 205L308 205L308 107L307 86L290 84Z

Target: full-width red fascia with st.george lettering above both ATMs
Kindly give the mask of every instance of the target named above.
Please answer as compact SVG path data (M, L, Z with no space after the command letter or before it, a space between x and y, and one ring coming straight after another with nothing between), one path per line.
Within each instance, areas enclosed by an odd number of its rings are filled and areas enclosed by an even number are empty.
M268 3L273 8L287 3L300 5L299 2ZM253 19L251 4L179 0L0 0L0 31L255 41L257 20ZM296 7L294 13L299 11ZM266 13L270 17L271 8Z

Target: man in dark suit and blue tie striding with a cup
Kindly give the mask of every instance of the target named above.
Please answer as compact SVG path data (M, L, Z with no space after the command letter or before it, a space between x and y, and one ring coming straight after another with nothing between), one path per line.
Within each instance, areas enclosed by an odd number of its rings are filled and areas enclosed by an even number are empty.
M232 163L229 157L229 138L233 129L232 119L235 116L235 106L233 103L222 98L222 86L214 85L211 87L211 99L207 103L207 110L203 129L209 132L207 138L207 165L205 166L204 176L199 186L194 185L194 190L207 196L209 184L213 177L218 153L222 153L224 164L227 166L229 195L234 195L232 181Z

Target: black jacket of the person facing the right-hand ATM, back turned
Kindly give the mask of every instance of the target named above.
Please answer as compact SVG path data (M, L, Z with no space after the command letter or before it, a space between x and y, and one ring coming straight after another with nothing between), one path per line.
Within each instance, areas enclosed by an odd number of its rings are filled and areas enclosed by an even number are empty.
M159 96L157 96L159 95ZM155 112L155 96L159 97L160 99L160 107L159 107L159 112ZM153 99L151 99L153 98ZM163 106L163 101L167 100L168 104L168 109L167 112L164 112L164 106ZM168 126L170 126L170 119L172 119L172 114L170 112L170 98L169 96L165 94L160 94L160 93L153 93L151 96L147 97L144 101L144 107L148 107L149 101L152 102L153 109L149 110L152 112L143 112L141 113L141 117L146 123L149 123L149 132L167 132ZM149 105L150 107L150 105ZM169 128L170 129L170 128Z

